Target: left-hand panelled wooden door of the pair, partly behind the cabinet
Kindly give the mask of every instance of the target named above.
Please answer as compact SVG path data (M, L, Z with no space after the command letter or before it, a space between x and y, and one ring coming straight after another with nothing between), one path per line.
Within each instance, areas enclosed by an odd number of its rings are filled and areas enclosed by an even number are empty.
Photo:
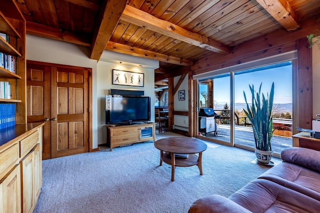
M27 123L43 122L42 159L51 158L51 67L27 63L26 65Z

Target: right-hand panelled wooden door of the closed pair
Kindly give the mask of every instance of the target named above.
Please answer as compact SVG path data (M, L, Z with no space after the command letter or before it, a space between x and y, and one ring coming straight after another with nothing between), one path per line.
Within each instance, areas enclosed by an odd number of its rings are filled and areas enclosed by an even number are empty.
M51 158L88 152L89 72L51 67Z

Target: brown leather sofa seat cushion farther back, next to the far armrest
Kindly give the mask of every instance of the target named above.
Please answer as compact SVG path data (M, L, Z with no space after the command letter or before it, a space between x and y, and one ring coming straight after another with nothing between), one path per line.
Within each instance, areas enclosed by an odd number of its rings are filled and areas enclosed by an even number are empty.
M259 179L266 179L320 201L320 174L295 164L282 162Z

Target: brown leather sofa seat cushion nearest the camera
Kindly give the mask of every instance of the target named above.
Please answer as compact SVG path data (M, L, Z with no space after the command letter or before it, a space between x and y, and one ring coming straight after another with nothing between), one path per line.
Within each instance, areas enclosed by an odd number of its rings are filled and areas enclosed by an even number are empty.
M229 199L253 213L316 213L320 209L320 201L264 179L251 181Z

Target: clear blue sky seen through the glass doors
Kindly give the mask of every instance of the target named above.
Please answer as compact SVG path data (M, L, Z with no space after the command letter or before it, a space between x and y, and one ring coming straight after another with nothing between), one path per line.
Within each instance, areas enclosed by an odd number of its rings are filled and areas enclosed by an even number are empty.
M243 90L247 101L251 102L249 85L254 85L258 90L262 82L261 92L266 96L270 93L274 82L274 103L292 102L292 70L291 65L274 67L254 72L237 72L234 75L234 103L245 103ZM229 101L229 76L215 78L213 83L214 101L219 104L230 103Z

